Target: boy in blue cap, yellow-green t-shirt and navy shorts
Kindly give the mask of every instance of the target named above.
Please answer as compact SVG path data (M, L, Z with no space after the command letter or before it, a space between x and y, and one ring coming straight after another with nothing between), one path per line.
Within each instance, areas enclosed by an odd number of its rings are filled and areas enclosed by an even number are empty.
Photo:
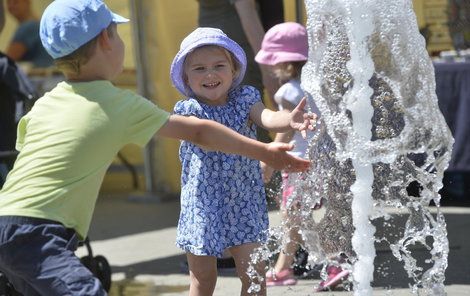
M306 170L288 144L264 144L218 123L169 115L109 81L122 70L116 24L100 0L56 0L41 41L66 81L40 98L18 126L17 161L0 191L0 271L24 295L105 295L74 255L86 237L106 169L128 143L153 134ZM296 114L297 121L302 114ZM299 119L300 117L300 119ZM294 117L293 117L294 118ZM303 122L309 126L308 119Z

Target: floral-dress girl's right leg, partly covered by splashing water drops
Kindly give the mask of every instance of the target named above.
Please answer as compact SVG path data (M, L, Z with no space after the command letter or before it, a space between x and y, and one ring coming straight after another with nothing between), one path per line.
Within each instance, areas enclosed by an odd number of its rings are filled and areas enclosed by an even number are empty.
M264 296L266 295L266 282L264 279L251 279L247 272L248 268L250 267L251 257L250 255L253 254L256 248L260 246L259 243L249 243L243 244L240 246L231 247L230 253L232 253L233 258L235 259L235 265L237 267L237 274L240 280L242 281L242 290L240 295L248 296L248 295L256 295L256 296ZM254 265L256 272L264 276L266 271L266 264L263 262L258 262ZM260 290L257 292L249 293L248 289L250 288L251 284L258 284L260 286Z

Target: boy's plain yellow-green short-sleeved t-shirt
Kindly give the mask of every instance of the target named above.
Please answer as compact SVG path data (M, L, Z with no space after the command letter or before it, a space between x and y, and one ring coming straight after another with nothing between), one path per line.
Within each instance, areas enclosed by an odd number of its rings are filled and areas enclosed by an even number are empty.
M126 144L144 146L169 114L109 81L59 83L18 125L0 216L45 218L86 237L104 174Z

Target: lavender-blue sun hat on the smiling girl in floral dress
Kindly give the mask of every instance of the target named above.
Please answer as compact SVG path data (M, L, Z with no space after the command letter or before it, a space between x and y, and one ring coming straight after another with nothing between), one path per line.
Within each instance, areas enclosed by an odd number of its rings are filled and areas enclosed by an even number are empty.
M246 55L240 45L230 39L220 29L209 27L197 28L183 39L180 50L173 59L170 68L170 76L173 85L186 96L192 95L192 93L191 90L186 87L184 82L184 61L193 50L205 45L221 46L231 52L235 57L235 62L240 67L240 73L233 81L231 88L239 85L245 76Z

